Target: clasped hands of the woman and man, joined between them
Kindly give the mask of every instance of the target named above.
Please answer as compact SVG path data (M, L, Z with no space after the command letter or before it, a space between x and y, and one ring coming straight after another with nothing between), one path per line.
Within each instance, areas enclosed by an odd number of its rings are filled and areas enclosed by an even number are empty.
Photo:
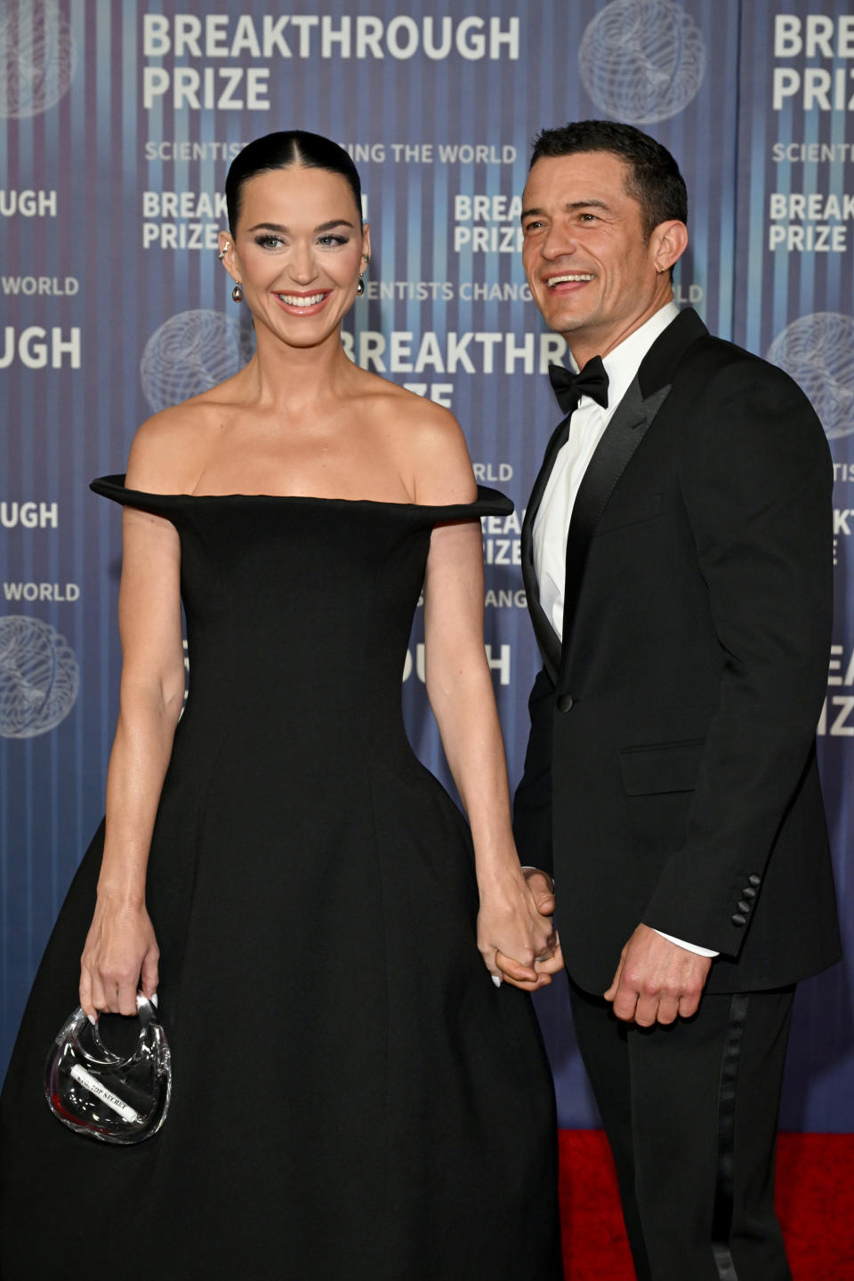
M552 981L551 976L563 968L553 912L549 877L534 869L489 890L481 886L478 948L493 977L524 991Z

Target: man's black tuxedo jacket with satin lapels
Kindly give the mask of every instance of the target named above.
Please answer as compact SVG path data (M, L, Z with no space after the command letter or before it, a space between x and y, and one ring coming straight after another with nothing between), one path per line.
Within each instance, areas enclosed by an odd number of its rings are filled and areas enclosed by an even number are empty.
M682 311L581 483L561 646L522 571L544 667L515 801L553 871L567 968L602 993L639 922L713 948L708 990L840 956L816 763L832 616L832 466L780 369Z

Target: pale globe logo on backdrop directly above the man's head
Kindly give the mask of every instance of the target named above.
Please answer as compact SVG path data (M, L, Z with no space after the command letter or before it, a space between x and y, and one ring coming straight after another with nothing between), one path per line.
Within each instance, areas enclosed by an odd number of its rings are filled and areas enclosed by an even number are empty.
M613 0L588 23L579 72L606 115L635 124L667 120L703 83L703 32L675 0Z

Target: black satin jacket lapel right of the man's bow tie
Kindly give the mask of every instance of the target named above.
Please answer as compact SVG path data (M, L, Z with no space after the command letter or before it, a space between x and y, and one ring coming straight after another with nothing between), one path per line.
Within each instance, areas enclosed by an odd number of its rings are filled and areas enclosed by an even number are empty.
M581 591L590 539L595 533L595 528L599 524L602 512L613 493L617 480L647 434L656 414L665 404L670 384L659 387L644 400L640 392L640 383L635 378L620 401L613 418L597 445L595 452L590 459L590 465L584 473L584 479L572 507L570 533L566 539L561 675L563 674L566 657L570 652L572 623Z

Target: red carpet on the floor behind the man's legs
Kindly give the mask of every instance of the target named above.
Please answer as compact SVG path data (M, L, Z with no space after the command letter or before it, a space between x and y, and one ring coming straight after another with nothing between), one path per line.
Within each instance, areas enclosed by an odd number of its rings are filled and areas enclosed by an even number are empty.
M784 1134L777 1212L794 1281L854 1281L854 1135ZM634 1281L600 1130L561 1131L566 1281Z

